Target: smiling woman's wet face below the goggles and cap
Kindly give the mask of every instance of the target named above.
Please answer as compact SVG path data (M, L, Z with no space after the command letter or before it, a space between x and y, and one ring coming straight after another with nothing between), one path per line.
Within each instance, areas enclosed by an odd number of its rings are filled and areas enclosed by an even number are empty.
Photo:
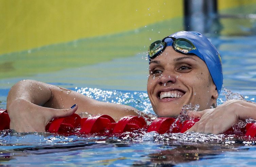
M205 110L216 103L216 86L206 64L196 55L166 47L150 61L149 74L147 92L159 117L176 117L185 104L199 104L199 110Z

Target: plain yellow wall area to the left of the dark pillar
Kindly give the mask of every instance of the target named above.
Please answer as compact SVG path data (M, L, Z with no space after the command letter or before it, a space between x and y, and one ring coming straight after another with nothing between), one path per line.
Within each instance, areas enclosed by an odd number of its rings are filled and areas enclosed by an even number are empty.
M0 54L136 29L183 15L183 1L0 0Z

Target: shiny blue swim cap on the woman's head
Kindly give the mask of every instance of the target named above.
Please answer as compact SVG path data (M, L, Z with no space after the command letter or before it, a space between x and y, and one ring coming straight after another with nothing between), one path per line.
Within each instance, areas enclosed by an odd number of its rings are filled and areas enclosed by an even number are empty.
M204 35L195 31L180 31L169 35L169 37L174 37L176 39L184 38L195 45L198 50L196 55L205 62L217 88L218 94L220 94L223 84L221 57L213 44ZM166 38L165 42L167 43L167 46L172 46L172 40L170 38Z

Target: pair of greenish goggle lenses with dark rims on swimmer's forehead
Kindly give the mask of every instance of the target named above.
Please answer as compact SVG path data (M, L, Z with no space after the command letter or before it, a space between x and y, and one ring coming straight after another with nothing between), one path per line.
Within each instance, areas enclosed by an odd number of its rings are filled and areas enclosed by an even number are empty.
M175 39L173 37L166 37L166 38L171 38L174 41L172 43L173 48L182 53L188 53L189 51L196 49L195 45L187 39L184 39L184 38ZM161 54L164 51L167 45L167 43L164 42L166 38L164 38L162 41L160 40L155 41L149 46L148 54L151 59Z

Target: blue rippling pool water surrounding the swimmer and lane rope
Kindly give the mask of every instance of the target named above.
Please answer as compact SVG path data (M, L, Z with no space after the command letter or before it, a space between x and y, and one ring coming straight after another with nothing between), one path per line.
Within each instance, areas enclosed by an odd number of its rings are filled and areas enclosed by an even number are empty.
M222 55L223 87L254 102L255 39L253 31L249 36L211 36ZM43 80L100 101L127 104L153 114L146 93L147 67L142 52L26 78ZM10 87L21 79L23 77L0 80L1 108L6 108ZM224 101L225 96L221 95L218 104ZM255 166L255 141L256 138L223 134L127 132L121 137L106 137L99 134L19 134L4 130L0 133L0 166Z

